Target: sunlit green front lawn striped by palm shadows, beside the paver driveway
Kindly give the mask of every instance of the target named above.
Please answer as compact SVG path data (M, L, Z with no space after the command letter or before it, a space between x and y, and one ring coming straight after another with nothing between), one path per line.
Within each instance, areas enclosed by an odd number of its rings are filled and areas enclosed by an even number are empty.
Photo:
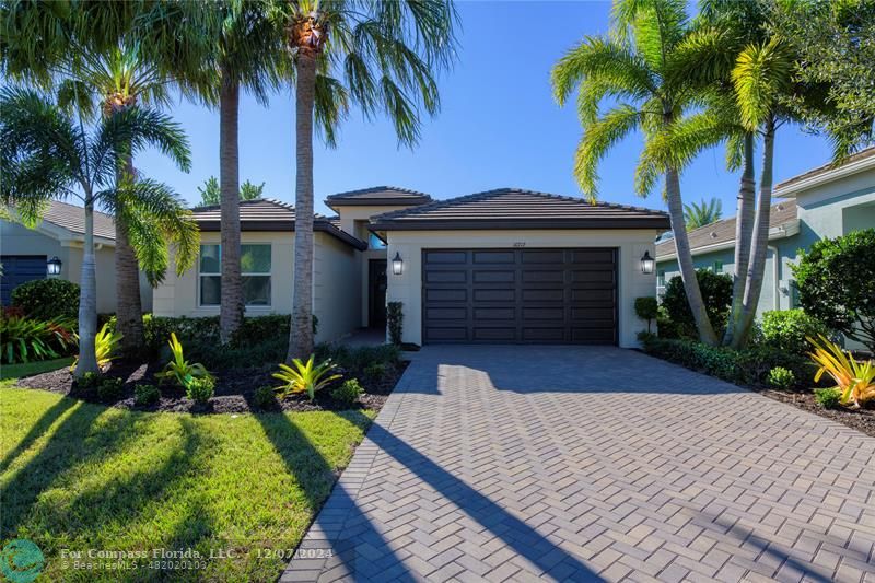
M0 383L0 539L30 538L46 580L273 581L373 415L131 412ZM73 569L62 549L192 548L198 570ZM233 559L213 558L231 551ZM262 553L264 555L264 553Z

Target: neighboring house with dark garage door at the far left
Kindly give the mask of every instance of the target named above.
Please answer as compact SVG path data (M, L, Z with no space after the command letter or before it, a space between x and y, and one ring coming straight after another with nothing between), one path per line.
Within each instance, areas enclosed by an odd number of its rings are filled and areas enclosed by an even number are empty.
M46 264L52 257L61 261L57 277L79 283L85 233L82 207L52 200L35 229L0 220L0 263L3 265L0 288L2 303L9 305L12 290L26 281L45 279ZM115 223L103 212L94 212L94 258L97 272L97 312L116 311ZM152 289L141 273L140 300L143 311L152 308Z

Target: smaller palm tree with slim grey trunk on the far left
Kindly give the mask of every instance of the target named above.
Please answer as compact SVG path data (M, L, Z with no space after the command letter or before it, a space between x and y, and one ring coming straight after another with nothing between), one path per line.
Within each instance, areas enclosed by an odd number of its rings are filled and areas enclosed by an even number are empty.
M131 107L85 128L81 116L72 118L35 91L0 92L0 200L28 225L38 222L51 199L78 198L84 205L78 377L97 371L94 209L104 208L124 221L135 247L148 249L143 257L156 268L168 264L162 240L171 230L180 234L177 272L194 264L198 249L197 225L180 212L183 202L167 186L130 175L118 179L119 165L145 147L187 168L188 145L179 127L154 110Z

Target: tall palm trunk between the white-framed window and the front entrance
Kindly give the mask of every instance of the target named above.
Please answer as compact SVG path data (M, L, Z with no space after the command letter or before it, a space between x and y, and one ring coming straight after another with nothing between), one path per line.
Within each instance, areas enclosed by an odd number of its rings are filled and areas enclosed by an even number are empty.
M295 69L294 295L287 361L313 353L313 105L316 95L316 57L308 51L299 53Z

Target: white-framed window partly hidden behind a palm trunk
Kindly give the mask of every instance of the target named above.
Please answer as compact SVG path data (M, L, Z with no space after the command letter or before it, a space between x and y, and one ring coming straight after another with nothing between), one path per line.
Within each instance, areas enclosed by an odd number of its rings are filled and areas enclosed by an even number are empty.
M243 302L247 306L269 307L270 244L245 243L240 246L243 277ZM218 243L200 246L198 258L198 303L215 306L222 300L222 247Z

